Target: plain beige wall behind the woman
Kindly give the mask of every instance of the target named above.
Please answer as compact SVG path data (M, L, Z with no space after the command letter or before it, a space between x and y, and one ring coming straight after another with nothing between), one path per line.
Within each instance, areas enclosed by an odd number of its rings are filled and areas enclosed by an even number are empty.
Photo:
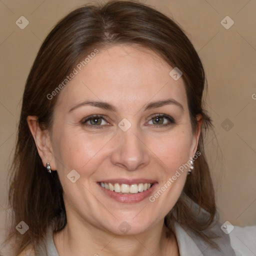
M52 26L85 0L0 0L0 208L20 100L29 69ZM93 1L91 1L93 2ZM187 32L206 69L207 109L215 133L205 143L221 221L256 224L256 1L146 0ZM21 16L29 24L20 29ZM234 24L224 28L229 16ZM226 25L230 21L225 21ZM227 119L228 118L228 119ZM226 120L227 119L227 120ZM232 126L233 125L233 126Z

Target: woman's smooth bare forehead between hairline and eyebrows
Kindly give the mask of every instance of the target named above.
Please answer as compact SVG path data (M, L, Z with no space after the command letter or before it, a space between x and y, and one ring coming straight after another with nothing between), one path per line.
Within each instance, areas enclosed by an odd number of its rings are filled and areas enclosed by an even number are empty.
M94 55L94 54L93 54ZM88 61L88 59L87 59ZM58 95L58 105L68 107L85 99L141 107L150 100L174 98L186 106L182 77L174 80L171 67L145 47L113 45L98 49Z

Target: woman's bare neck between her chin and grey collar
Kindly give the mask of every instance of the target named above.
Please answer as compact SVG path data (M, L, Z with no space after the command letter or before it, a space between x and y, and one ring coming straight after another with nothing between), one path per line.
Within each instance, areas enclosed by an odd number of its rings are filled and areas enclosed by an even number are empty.
M69 220L53 235L59 256L65 255L179 255L174 234L167 236L163 219L153 227L135 235L115 235L90 223Z

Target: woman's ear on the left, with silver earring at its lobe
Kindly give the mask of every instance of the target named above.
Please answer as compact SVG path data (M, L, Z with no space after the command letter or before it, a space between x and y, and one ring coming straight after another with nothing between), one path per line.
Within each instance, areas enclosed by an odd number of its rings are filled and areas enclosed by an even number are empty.
M53 156L53 149L50 141L48 130L42 130L38 124L38 118L35 115L28 115L27 124L30 132L34 138L37 151L41 157L43 166L49 162L50 168L56 170L55 158Z

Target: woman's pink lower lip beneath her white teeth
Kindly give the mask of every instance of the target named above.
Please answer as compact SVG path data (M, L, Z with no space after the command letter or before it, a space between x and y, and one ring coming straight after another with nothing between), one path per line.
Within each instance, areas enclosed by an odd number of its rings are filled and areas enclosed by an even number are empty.
M133 202L140 202L140 201L144 200L145 198L147 198L150 195L150 193L153 191L156 183L153 183L153 185L149 189L146 189L143 192L137 192L137 193L134 193L134 194L119 194L117 192L114 192L114 191L111 191L111 190L108 190L108 189L102 187L100 185L100 183L98 183L98 185L99 185L100 189L107 196L115 199L116 201L126 202L126 203L133 203Z

